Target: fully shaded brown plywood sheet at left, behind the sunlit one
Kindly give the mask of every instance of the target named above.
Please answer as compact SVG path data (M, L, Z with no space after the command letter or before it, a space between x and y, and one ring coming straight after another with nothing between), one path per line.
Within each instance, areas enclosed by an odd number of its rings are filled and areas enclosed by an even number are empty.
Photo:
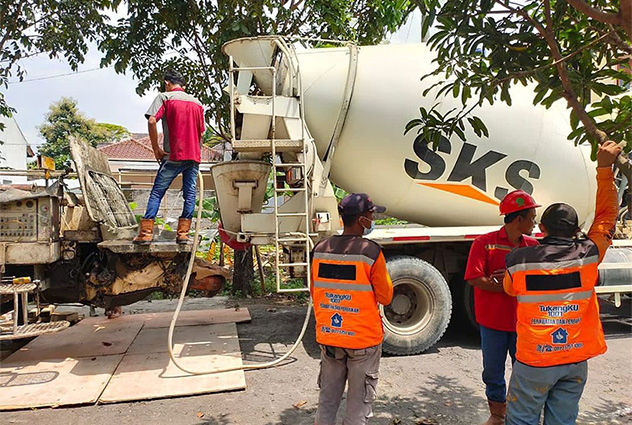
M59 333L40 335L13 353L7 362L123 354L143 327L142 321L106 320L81 323Z

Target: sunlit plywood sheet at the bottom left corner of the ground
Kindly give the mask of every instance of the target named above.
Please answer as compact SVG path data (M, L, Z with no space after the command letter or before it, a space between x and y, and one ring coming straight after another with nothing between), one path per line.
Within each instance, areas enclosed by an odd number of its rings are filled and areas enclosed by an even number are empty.
M0 410L95 403L122 357L3 361Z

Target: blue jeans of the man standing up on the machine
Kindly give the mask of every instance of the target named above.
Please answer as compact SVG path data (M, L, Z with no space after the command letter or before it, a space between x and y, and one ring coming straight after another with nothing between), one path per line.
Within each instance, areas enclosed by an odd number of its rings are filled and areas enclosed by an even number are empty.
M182 174L182 198L184 199L180 218L190 219L193 217L199 166L200 164L195 161L162 161L158 168L158 174L156 174L154 186L151 188L149 200L147 201L147 210L143 218L156 218L160 208L160 201L162 201L162 197L165 196L171 182L178 177L178 174Z

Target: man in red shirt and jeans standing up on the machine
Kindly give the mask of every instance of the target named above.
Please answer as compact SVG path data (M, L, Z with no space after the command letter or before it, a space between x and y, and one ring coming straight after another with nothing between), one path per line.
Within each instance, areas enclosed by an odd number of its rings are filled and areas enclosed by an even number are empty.
M182 88L184 78L180 73L168 70L164 74L164 81L166 92L160 93L145 113L151 147L160 167L147 201L147 210L140 221L140 232L134 239L134 243L140 245L151 243L160 201L179 174L182 174L184 206L178 220L176 242L188 242L195 209L196 182L204 133L204 108L199 100L185 93ZM164 135L162 148L158 146L156 124L160 120Z

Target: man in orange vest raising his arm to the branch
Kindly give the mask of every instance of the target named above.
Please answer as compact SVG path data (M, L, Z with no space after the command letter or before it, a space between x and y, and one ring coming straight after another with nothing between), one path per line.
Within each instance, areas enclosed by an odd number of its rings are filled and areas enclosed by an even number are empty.
M587 238L574 238L576 211L553 204L542 215L541 245L507 255L504 288L518 301L508 425L537 425L542 409L545 425L575 424L587 360L606 352L594 287L617 219L612 164L620 152L606 142L597 153L597 206Z

